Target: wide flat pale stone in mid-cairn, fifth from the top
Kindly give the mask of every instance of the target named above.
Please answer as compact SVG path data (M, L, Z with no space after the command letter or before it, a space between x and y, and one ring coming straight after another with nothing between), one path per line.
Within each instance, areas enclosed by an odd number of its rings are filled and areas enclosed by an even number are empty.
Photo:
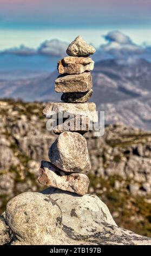
M52 102L48 103L43 109L43 114L46 118L50 118L51 115L62 113L63 118L68 118L68 114L71 117L76 117L79 115L87 116L91 121L97 121L96 105L94 102L88 103L66 103L66 102ZM64 116L66 114L66 116ZM71 118L70 117L70 118Z

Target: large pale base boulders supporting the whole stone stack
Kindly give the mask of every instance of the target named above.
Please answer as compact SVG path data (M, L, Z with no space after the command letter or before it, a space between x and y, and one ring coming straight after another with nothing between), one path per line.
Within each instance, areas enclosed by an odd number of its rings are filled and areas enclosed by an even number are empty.
M5 220L7 225L0 219L0 234L9 230L12 238L0 235L2 244L151 245L151 239L117 227L107 206L96 196L80 197L55 188L11 199Z

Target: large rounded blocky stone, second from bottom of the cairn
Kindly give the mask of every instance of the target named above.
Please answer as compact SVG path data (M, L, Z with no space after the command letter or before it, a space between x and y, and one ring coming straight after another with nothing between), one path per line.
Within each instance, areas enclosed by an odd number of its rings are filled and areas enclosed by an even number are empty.
M49 149L52 164L64 172L87 173L91 168L86 139L77 132L63 132Z

